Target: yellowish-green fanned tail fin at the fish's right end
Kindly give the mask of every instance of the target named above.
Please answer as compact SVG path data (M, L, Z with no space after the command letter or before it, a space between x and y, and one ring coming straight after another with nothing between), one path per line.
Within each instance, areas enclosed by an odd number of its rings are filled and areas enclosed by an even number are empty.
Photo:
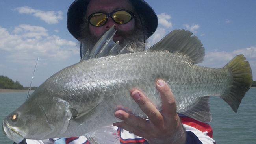
M244 55L237 55L225 66L232 72L233 81L229 94L224 94L221 98L230 105L234 112L237 112L245 92L252 85L252 69L245 60Z

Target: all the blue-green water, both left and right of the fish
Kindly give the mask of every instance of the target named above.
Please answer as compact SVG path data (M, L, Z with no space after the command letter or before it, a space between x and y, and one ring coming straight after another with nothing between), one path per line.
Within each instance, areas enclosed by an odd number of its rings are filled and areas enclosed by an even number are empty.
M19 107L26 97L27 93L0 93L0 122ZM211 97L210 107L213 116L210 125L218 144L256 144L256 88L246 93L237 113L217 97ZM13 144L4 135L2 128L0 144Z

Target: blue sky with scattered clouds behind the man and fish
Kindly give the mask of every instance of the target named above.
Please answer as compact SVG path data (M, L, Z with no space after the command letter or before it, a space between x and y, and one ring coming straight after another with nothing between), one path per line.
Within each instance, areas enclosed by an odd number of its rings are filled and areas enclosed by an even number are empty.
M73 0L0 1L0 75L33 86L77 63L79 43L66 27ZM154 44L174 29L190 30L206 49L200 65L220 68L244 54L256 76L255 0L146 0L159 18ZM254 78L254 80L256 80Z

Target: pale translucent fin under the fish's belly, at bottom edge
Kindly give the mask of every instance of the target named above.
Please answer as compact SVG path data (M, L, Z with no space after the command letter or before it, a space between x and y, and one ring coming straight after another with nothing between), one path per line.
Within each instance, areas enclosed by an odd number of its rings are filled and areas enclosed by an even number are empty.
M120 144L120 137L114 126L102 127L95 132L85 134L90 144Z

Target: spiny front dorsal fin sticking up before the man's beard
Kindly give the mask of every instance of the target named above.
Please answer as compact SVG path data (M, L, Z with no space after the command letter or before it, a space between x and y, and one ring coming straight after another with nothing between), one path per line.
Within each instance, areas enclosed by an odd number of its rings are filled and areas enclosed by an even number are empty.
M85 61L87 59L95 58L95 57L105 57L108 55L117 55L122 54L122 51L127 50L127 46L122 48L119 45L119 41L114 42L113 37L115 35L115 28L112 26L95 44L91 52L89 52L89 48L85 55L82 57L81 61Z

